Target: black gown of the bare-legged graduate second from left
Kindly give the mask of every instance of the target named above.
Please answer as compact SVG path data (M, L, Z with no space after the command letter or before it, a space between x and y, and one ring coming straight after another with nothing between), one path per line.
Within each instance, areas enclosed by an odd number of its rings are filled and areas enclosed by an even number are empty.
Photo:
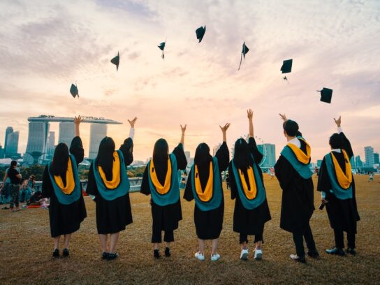
M133 141L131 138L124 140L123 145L119 149L123 153L125 165L129 166L133 161ZM96 186L92 163L89 168L89 180L86 192L95 196L96 228L98 229L98 234L118 233L119 231L124 231L127 225L132 224L129 193L115 200L105 200Z

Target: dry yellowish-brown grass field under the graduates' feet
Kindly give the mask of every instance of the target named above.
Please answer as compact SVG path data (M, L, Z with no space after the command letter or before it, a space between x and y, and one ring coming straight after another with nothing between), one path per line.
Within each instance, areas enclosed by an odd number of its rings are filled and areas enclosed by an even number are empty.
M87 219L73 234L71 256L52 259L47 210L0 212L0 284L380 284L380 184L356 175L358 223L357 256L328 256L334 245L326 210L316 210L311 220L321 258L294 263L291 234L279 228L282 191L277 180L265 176L272 220L265 225L263 260L240 261L238 233L232 231L234 201L225 191L224 230L219 241L220 261L193 257L197 238L193 225L193 202L182 200L184 219L175 231L172 256L154 260L150 244L152 217L149 197L131 193L133 224L122 232L115 261L101 260L96 235L95 207L85 198ZM316 180L314 178L314 185ZM319 205L319 193L315 195ZM163 251L163 247L161 253Z

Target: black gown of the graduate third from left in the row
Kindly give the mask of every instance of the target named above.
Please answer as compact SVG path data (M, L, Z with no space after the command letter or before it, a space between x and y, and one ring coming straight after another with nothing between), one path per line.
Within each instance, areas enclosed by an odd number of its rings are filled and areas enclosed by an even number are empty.
M177 159L177 169L184 170L187 166L187 159L184 154L184 147L179 144L173 150L173 154ZM166 173L168 172L168 163L154 163L157 173L157 179L164 184ZM149 195L149 178L148 178L148 168L145 168L144 175L142 176L141 189L140 192ZM153 232L156 231L174 231L178 228L178 221L182 220L182 209L181 200L179 199L177 203L159 206L151 199L150 205L152 205L152 219L153 219Z

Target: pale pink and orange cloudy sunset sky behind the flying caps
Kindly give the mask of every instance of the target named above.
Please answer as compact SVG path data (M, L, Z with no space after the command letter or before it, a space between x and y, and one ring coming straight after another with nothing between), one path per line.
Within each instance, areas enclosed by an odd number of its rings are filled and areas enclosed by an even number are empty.
M322 4L323 3L323 4ZM206 25L203 41L195 30ZM165 60L157 47L167 38ZM249 52L238 71L242 43ZM119 71L110 59L120 52ZM293 59L289 83L279 68ZM80 98L69 93L78 83ZM331 104L317 89L334 90ZM380 1L16 1L0 0L0 142L7 126L27 145L27 117L85 115L108 126L117 144L136 123L135 159L154 142L170 149L187 124L185 149L248 133L286 143L279 112L300 125L312 161L328 152L342 127L355 154L380 151ZM57 131L58 124L51 124ZM82 125L86 153L89 124ZM364 158L362 158L364 159Z

